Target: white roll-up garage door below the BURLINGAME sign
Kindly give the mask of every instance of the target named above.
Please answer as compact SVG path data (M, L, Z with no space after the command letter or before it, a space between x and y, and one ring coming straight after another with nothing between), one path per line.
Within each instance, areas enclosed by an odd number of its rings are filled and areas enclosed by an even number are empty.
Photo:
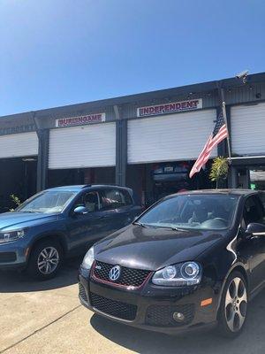
M50 130L49 168L116 165L116 124Z

